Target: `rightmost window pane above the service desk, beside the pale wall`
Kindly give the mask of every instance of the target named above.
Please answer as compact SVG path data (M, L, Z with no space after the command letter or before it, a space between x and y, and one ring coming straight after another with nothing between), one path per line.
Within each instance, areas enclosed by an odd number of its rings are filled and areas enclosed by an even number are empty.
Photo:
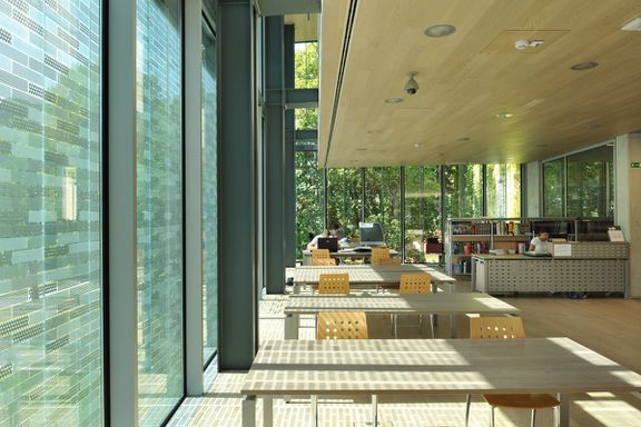
M568 156L568 216L613 217L612 146L601 146Z

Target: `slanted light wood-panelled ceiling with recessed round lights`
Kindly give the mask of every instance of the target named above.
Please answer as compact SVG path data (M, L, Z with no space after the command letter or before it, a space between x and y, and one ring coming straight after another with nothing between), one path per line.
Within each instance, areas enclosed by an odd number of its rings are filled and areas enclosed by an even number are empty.
M639 130L641 32L621 31L638 17L639 0L324 0L319 165L527 162ZM441 23L456 31L424 36Z

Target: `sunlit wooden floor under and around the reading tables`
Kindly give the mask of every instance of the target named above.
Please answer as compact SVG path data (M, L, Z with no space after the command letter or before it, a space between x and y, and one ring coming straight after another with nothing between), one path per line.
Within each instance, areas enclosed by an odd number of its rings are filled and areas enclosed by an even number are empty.
M462 284L463 288L466 286ZM285 296L267 296L260 302L260 340L283 338L283 306ZM522 310L525 332L530 337L570 337L602 355L641 373L641 300L620 298L568 299L562 296L503 298ZM368 317L375 337L391 337L388 316ZM421 334L414 318L400 318L405 327L400 336L428 338L428 328ZM300 339L313 339L313 319L303 318ZM458 320L458 336L469 336L464 316ZM437 337L448 332L447 319L440 318ZM188 398L169 426L240 426L238 393L244 374L224 373L216 377L203 398ZM416 396L412 401L382 400L378 406L382 426L463 426L465 396ZM609 393L571 396L571 425L575 427L640 427L641 395ZM489 426L489 407L474 397L470 426ZM529 411L500 410L497 426L529 426ZM258 403L258 425L260 400ZM308 400L274 403L275 426L310 426ZM369 405L363 400L335 400L319 405L322 426L365 426ZM538 416L538 426L552 426L550 410Z

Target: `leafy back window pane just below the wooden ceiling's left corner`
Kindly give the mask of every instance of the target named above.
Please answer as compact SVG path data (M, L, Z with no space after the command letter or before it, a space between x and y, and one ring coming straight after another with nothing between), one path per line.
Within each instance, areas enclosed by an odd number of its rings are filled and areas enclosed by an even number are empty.
M338 222L343 237L358 236L362 186L361 169L327 169L327 224Z

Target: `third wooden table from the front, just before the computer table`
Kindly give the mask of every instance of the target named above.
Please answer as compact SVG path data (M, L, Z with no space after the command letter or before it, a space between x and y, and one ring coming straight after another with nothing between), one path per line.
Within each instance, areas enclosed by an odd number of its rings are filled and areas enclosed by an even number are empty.
M401 281L403 274L428 272L432 275L434 291L437 286L443 286L447 292L452 292L456 279L426 266L403 264L400 266L305 266L294 269L294 294L300 292L304 285L318 285L323 274L347 272L349 285L353 287L394 285Z

